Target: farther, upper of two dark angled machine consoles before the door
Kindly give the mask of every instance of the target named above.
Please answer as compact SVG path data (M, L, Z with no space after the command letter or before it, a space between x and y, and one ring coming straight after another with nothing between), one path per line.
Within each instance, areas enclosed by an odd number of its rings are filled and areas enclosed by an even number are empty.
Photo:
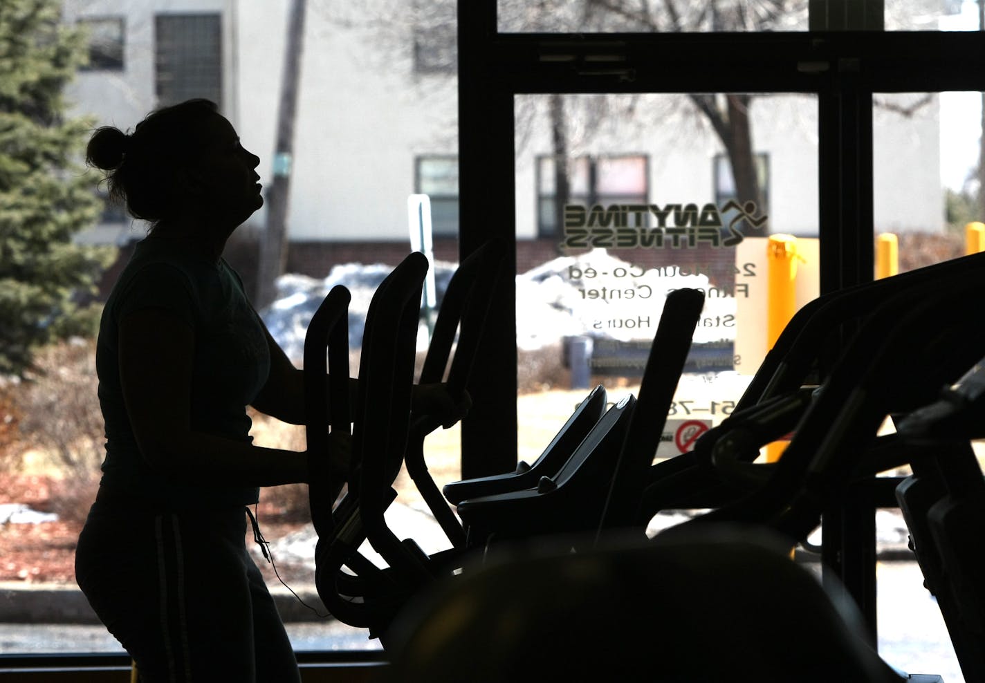
M449 482L441 489L445 499L452 505L458 505L471 498L536 488L542 476L554 477L602 418L607 400L605 388L597 386L578 404L533 465L520 461L512 472Z

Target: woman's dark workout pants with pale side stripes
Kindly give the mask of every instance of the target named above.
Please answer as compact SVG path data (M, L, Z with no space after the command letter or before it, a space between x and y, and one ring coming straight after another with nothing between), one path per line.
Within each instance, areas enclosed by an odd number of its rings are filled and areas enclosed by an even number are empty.
M244 508L155 512L99 495L76 580L142 680L300 681L245 532Z

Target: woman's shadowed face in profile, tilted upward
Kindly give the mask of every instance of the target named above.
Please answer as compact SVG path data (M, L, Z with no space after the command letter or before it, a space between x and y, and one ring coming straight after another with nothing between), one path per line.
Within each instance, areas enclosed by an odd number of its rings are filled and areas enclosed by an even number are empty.
M216 114L207 124L209 142L193 167L202 209L234 228L263 206L256 167L260 157L243 149L232 124Z

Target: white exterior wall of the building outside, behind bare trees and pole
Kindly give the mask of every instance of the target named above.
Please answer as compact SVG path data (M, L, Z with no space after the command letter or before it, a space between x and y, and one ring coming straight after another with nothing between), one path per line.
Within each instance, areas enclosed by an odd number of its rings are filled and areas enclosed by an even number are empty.
M457 154L454 75L415 70L406 18L364 26L375 2L339 10L330 0L308 0L288 217L292 240L406 240L407 197L420 191L417 159ZM399 11L410 12L412 5ZM81 73L70 92L75 111L95 115L98 125L132 128L159 104L158 20L213 16L221 26L220 104L243 145L261 157L258 170L269 186L289 7L288 0L65 0L67 22L123 21L122 69ZM648 201L714 203L714 158L722 148L707 123L686 113L685 100L641 95L631 120L587 124L575 114L570 154L642 156ZM552 154L546 115L531 118L528 111L543 102L533 101L517 99L519 239L538 236L536 160ZM577 112L573 95L569 101L569 112ZM766 156L769 169L770 231L817 234L816 98L759 96L751 113L755 152ZM877 231L942 230L937 96L909 116L877 110L875 128ZM251 224L262 227L264 220L260 212ZM140 233L127 223L104 225L102 234L121 230Z

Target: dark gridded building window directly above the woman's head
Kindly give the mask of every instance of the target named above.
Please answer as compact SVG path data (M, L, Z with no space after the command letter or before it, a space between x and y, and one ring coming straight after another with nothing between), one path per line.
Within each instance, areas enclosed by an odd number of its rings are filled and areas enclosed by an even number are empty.
M223 101L222 16L155 17L155 92L158 105L193 97Z

